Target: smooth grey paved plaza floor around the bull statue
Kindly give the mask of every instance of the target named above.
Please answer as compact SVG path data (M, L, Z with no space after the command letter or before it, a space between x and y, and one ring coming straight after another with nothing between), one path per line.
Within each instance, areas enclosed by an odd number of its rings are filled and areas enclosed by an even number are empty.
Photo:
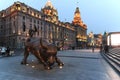
M97 51L60 51L65 65L60 69L56 64L52 70L44 70L33 55L28 65L21 65L22 55L0 58L0 80L120 80Z

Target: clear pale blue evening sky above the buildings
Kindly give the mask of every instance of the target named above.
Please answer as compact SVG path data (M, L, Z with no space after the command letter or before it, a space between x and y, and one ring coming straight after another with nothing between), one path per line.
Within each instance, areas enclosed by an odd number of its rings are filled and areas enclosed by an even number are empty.
M15 1L41 10L48 0L0 0L0 11ZM58 10L59 20L72 22L76 7L79 7L87 33L120 32L120 0L51 0ZM78 3L77 3L78 2Z

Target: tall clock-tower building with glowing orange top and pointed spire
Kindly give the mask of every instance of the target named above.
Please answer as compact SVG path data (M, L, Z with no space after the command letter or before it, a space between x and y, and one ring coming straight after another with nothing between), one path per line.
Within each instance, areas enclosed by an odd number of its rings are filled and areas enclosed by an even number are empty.
M76 8L76 11L74 13L74 19L72 21L72 24L75 26L76 30L76 43L77 47L84 48L87 44L87 26L83 23L79 11L79 7Z

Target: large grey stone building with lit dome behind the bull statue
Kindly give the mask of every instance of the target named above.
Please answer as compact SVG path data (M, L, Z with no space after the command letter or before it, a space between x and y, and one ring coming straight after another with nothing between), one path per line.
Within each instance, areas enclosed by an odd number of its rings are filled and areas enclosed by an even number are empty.
M42 37L52 43L59 42L59 45L66 47L76 46L75 26L61 22L50 1L41 11L18 1L0 11L0 46L24 48L30 30L35 31L33 37Z

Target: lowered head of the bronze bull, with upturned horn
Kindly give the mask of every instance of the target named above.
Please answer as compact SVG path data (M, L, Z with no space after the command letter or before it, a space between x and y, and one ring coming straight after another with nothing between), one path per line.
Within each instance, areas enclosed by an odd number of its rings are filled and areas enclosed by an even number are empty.
M47 44L45 45L44 42L40 39L41 49L45 50L42 51L41 54L44 56L45 61L48 63L49 66L52 66L55 62L60 64L60 61L57 61L57 46L54 44ZM41 55L41 56L42 56Z

